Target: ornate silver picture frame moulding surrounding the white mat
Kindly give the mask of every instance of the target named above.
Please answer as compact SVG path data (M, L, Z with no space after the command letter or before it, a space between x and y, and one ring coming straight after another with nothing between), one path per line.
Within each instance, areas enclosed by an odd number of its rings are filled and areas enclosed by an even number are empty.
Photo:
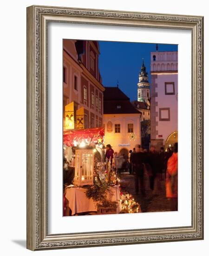
M191 226L48 233L48 23L190 30L192 36ZM27 249L63 249L203 239L203 17L66 7L27 7Z

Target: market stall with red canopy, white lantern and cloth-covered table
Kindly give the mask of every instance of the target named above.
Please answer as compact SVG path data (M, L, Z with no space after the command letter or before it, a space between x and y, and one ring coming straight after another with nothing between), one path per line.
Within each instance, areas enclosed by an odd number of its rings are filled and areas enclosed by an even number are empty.
M114 161L104 162L103 143L104 128L64 132L63 177L69 177L64 181L64 216L140 212L132 197L120 191Z

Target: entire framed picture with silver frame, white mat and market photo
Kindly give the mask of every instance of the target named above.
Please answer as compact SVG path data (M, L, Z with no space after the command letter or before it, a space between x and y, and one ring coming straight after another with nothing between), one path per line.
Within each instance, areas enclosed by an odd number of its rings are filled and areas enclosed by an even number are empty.
M203 239L203 17L27 8L27 248Z

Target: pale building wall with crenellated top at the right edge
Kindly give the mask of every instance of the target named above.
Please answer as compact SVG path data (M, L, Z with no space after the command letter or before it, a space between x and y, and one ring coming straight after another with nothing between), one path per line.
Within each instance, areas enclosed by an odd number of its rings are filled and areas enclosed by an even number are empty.
M150 58L151 140L163 139L164 145L168 136L178 130L178 52L151 52ZM174 94L166 94L165 83L174 83ZM161 108L170 109L169 121L160 120Z

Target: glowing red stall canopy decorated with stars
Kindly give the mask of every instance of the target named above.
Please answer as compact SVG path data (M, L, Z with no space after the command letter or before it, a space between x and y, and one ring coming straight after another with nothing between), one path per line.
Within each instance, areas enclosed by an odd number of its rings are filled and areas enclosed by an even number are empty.
M68 147L78 146L81 142L90 145L90 143L103 143L104 128L89 128L82 130L70 130L63 133L63 144Z

